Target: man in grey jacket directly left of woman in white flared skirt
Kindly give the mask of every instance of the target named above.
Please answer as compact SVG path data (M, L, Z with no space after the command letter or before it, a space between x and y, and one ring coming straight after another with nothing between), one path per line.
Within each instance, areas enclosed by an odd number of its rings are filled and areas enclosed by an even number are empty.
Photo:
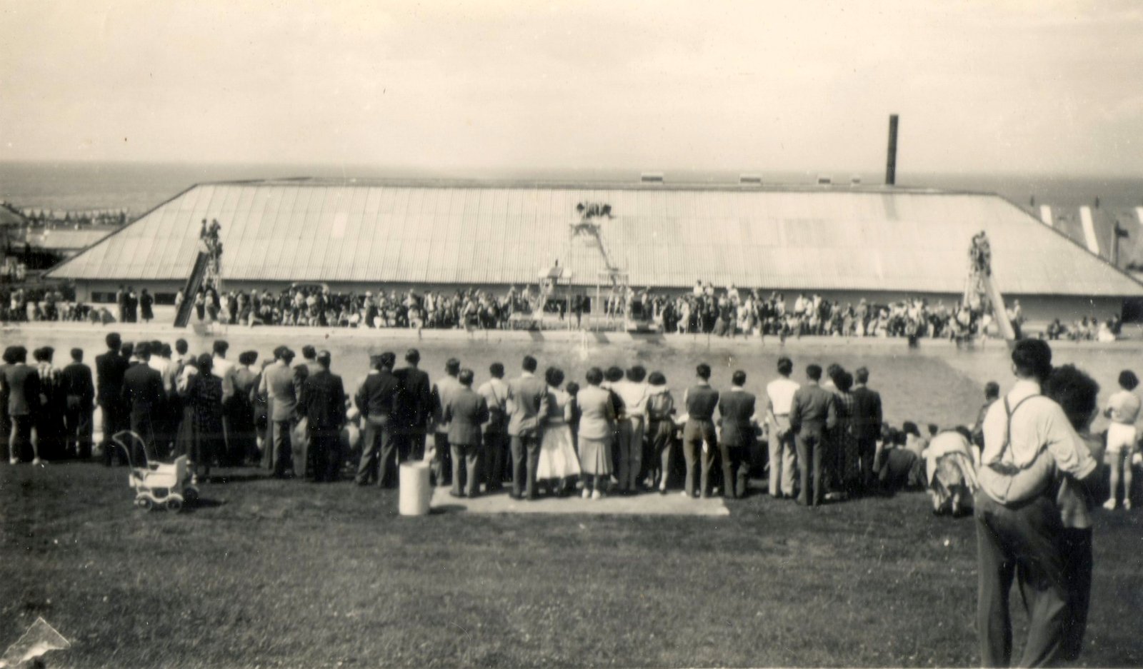
M536 499L542 421L547 416L547 384L536 378L536 358L523 356L523 373L507 384L507 435L512 446L512 498Z

